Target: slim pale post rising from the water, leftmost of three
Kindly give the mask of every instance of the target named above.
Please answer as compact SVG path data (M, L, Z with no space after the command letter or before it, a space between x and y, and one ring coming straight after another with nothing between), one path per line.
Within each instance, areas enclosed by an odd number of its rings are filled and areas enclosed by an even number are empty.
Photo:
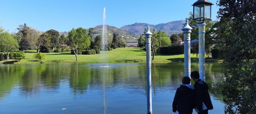
M147 27L146 36L146 60L147 60L147 114L152 114L152 92L151 92L151 35Z

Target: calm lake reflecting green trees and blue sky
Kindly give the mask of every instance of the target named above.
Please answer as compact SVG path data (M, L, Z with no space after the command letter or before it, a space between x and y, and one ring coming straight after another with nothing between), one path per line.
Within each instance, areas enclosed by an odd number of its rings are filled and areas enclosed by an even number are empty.
M147 114L146 64L108 65L0 65L0 114ZM153 114L172 114L173 97L184 76L183 65L152 64ZM191 64L193 70L198 70L197 63ZM214 105L209 114L224 113L223 78L219 63L206 63L206 83Z

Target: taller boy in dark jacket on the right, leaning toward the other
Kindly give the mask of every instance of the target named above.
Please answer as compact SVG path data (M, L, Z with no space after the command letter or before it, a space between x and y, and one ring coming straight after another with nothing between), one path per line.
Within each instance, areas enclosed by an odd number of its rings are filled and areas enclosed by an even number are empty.
M199 111L198 114L208 114L208 110L213 109L208 85L199 79L198 71L191 72L191 78L196 82L194 88L196 91L196 108Z

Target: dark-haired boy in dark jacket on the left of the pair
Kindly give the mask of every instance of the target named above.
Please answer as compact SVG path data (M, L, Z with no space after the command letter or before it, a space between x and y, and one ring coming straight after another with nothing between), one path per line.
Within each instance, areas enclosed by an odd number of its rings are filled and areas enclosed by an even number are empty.
M172 111L178 114L192 114L195 103L195 90L190 85L190 78L184 77L182 84L177 89L172 103Z

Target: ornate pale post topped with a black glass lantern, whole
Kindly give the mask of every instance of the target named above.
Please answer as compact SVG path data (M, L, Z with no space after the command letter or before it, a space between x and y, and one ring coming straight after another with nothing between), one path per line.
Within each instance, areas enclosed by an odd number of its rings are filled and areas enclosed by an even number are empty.
M198 33L199 33L199 75L200 79L205 81L205 20L211 20L212 3L208 0L198 0L193 6L193 20L198 22Z

